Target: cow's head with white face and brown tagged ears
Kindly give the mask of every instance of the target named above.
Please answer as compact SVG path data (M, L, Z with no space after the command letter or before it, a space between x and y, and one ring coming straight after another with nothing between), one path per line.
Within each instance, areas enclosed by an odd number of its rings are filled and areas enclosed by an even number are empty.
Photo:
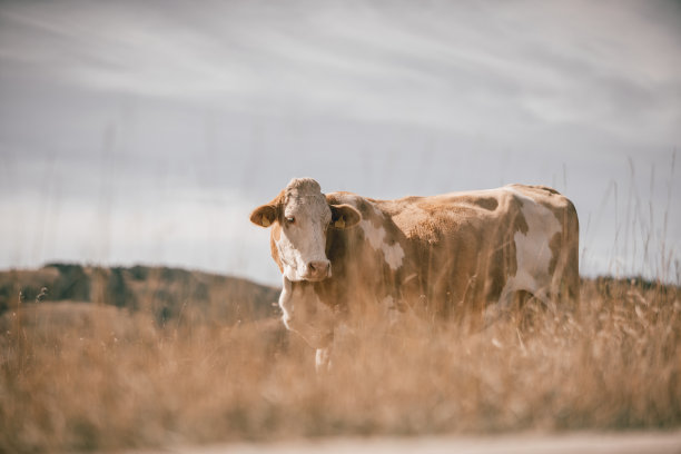
M329 277L327 230L353 227L361 219L349 205L329 204L312 178L294 178L274 200L250 214L251 223L272 227L272 256L292 282Z

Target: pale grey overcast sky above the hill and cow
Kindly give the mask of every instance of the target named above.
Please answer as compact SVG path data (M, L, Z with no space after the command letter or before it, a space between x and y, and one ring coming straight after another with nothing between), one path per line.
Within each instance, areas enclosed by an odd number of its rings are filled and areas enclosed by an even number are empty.
M278 285L250 210L553 186L584 275L679 283L679 1L0 1L0 268Z

